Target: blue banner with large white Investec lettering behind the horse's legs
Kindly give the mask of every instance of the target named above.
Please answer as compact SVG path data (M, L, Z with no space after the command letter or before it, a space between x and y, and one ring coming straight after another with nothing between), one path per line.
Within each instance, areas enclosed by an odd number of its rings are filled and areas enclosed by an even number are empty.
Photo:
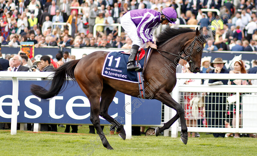
M90 103L78 84L69 85L63 93L50 100L41 100L32 95L31 84L48 88L50 81L19 81L18 123L60 123L60 124L92 124L90 121ZM11 122L12 81L0 81L0 122ZM161 102L132 97L132 124L160 125ZM118 122L125 124L125 94L117 92L110 104L108 114L120 118ZM136 107L135 107L136 106ZM108 124L100 117L101 124Z

